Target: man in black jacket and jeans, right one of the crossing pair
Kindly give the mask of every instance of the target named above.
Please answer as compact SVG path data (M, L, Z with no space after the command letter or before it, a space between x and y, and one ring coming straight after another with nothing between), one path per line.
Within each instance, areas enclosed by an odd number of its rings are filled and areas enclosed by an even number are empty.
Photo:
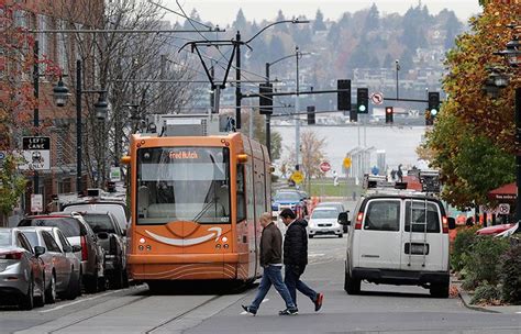
M282 223L287 226L286 238L284 240L284 282L288 287L289 293L297 305L297 290L308 296L314 304L314 311L322 308L324 296L315 292L300 280L306 266L308 265L308 222L298 220L291 209L284 209L280 212Z

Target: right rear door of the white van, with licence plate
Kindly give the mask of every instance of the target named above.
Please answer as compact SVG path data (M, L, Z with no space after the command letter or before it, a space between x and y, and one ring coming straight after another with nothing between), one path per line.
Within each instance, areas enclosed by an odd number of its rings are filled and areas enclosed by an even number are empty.
M411 205L412 203L412 205ZM422 199L404 201L404 227L401 240L402 270L444 270L445 236L442 212L436 202ZM412 229L411 229L412 226Z

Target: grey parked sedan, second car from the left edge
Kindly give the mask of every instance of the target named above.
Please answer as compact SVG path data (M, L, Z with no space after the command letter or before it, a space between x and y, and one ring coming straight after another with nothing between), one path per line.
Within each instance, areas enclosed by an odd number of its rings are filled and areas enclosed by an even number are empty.
M45 229L45 230L44 230ZM62 299L75 299L79 290L79 261L73 255L73 247L68 246L62 250L55 241L49 229L57 227L18 227L27 237L31 245L42 246L45 254L40 256L44 263L45 277L45 301L46 303L55 303L57 297ZM79 250L79 246L76 246ZM67 253L71 256L67 257ZM74 260L71 260L74 258ZM76 265L76 269L75 269Z

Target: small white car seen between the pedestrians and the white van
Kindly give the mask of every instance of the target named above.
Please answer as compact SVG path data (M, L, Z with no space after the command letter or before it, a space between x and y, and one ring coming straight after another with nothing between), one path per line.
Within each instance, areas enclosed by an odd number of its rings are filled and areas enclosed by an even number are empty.
M344 236L344 227L339 223L340 211L333 207L315 208L308 222L308 235L312 238L315 235Z

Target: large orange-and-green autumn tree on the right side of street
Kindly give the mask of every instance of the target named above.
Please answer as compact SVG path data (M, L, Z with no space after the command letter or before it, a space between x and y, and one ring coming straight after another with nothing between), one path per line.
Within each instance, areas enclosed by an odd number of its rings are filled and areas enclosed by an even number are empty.
M501 64L494 55L512 38L507 24L519 20L518 4L490 3L483 15L470 19L472 31L457 37L448 52L443 79L447 100L428 134L432 166L440 168L443 198L467 208L488 204L487 193L514 178L513 88L519 76L496 99L483 92L487 66Z

